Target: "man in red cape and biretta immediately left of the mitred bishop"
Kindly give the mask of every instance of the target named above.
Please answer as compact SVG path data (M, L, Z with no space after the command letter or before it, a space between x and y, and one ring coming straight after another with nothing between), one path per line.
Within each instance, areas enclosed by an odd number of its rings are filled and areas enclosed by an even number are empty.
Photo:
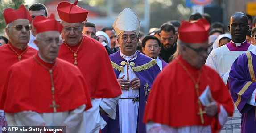
M83 35L83 22L88 11L80 8L78 0L71 4L60 2L57 11L63 25L62 38L58 57L77 66L90 90L92 108L84 113L86 123L85 133L99 133L106 122L100 116L106 113L115 119L116 104L121 94L120 85L105 47L97 40Z

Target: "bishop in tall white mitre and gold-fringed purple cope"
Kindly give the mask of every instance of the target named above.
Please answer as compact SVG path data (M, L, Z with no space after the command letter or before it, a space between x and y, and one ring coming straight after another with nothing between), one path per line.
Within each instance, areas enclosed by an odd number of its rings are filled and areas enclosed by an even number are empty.
M115 120L108 118L102 133L146 133L142 117L147 97L157 74L157 61L139 51L140 21L130 8L117 16L113 27L120 50L109 55L116 78L122 88ZM106 117L105 117L106 118Z

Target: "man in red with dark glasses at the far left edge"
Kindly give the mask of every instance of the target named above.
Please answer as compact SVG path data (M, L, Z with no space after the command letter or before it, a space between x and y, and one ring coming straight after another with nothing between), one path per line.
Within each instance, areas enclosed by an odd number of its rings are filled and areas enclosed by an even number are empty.
M0 55L2 56L0 58L0 92L4 88L9 67L14 63L31 57L37 52L37 50L27 46L31 29L29 23L31 23L32 18L25 6L22 4L17 10L6 8L3 15L7 24L5 32L9 41L7 45L0 47ZM2 102L0 101L0 109L3 109Z

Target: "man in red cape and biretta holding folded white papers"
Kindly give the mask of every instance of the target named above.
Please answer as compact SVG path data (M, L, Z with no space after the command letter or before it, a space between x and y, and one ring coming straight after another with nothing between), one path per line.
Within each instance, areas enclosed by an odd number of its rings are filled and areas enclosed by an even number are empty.
M209 27L205 19L181 24L179 55L157 76L149 94L144 115L148 133L218 133L232 116L227 87L204 65Z

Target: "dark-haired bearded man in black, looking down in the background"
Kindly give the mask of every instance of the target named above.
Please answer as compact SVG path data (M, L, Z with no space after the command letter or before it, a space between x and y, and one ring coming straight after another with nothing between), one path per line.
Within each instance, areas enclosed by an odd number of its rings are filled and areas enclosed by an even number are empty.
M161 51L160 57L168 63L169 58L176 52L178 33L170 23L164 23L160 28Z

